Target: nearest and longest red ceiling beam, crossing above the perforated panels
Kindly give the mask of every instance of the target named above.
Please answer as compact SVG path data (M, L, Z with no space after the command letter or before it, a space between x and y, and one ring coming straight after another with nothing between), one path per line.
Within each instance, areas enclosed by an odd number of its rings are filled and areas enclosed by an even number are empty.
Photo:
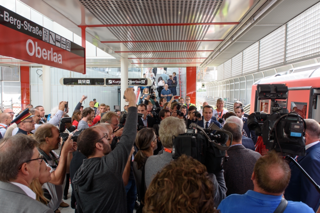
M79 25L78 27L123 27L123 26L193 26L193 25L237 25L239 22L210 22L210 23L152 23L152 24L112 24L112 25Z

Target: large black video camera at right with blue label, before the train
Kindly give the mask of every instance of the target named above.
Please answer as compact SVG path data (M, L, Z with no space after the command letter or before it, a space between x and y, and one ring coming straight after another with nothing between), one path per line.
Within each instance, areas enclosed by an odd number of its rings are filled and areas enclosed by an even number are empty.
M254 112L248 116L247 125L262 136L268 150L276 150L286 156L305 156L306 122L295 113L288 113L275 99L287 99L288 87L284 84L258 84L260 99L271 99L271 114ZM263 121L263 123L261 123ZM262 128L261 128L262 127Z

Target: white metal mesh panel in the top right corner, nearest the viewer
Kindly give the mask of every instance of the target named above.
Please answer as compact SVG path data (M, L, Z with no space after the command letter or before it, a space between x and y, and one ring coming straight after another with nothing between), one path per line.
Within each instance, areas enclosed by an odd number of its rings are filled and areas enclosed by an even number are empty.
M288 22L286 61L320 54L320 3Z

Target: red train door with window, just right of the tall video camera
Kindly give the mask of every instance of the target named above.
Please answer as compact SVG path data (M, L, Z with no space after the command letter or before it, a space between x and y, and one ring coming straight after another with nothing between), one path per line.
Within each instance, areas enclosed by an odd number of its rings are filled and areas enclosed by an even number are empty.
M302 118L311 118L310 97L312 97L312 88L309 87L290 87L288 88L287 107L289 112L296 112Z

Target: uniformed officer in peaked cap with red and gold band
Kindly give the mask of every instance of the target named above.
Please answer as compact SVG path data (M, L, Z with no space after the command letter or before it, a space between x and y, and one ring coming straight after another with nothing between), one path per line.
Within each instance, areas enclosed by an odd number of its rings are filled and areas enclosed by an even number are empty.
M17 134L33 136L31 131L35 129L35 121L32 118L34 115L32 115L29 110L29 108L25 109L11 122L17 124L19 128Z

